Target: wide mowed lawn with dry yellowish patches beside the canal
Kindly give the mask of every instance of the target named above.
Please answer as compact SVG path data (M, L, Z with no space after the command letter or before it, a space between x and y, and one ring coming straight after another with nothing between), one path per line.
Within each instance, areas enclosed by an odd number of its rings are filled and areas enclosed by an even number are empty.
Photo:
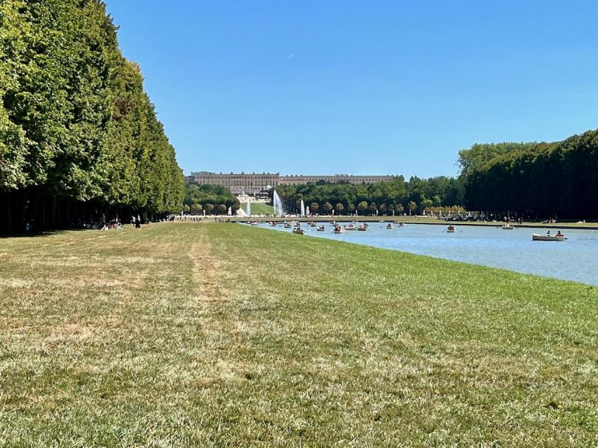
M238 224L0 239L0 445L591 447L598 290Z

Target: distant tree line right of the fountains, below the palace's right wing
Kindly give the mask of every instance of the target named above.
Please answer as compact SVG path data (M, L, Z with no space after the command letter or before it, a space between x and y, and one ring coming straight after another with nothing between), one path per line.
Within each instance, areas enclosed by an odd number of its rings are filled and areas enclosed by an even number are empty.
M438 176L430 179L397 176L392 182L308 183L278 186L276 191L289 211L299 211L301 200L320 214L416 214L456 211L463 204L461 179ZM461 208L462 209L462 208Z

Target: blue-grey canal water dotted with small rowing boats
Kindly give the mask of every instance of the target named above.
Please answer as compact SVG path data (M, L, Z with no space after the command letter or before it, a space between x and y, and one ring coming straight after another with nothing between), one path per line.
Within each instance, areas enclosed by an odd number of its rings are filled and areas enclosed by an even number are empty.
M503 230L496 227L456 225L455 233L447 233L444 231L446 225L395 225L392 230L386 230L385 223L368 224L367 232L349 231L340 235L332 233L330 224L326 224L325 232L316 232L315 228L305 224L301 225L301 228L305 230L305 235L313 237L500 267L598 286L598 230L562 230L567 237L566 241L532 241L532 233L545 235L548 229ZM261 226L291 232L282 225L270 227L266 223ZM550 233L554 235L557 230L557 227L551 228ZM297 237L300 238L301 235Z

